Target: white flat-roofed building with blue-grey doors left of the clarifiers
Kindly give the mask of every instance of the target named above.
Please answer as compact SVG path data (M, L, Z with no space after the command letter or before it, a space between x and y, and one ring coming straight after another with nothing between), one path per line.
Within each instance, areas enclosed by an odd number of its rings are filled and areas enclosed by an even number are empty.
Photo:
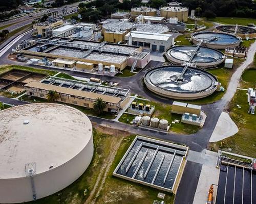
M164 52L174 44L174 37L170 34L132 31L125 35L125 43L148 47L153 52Z

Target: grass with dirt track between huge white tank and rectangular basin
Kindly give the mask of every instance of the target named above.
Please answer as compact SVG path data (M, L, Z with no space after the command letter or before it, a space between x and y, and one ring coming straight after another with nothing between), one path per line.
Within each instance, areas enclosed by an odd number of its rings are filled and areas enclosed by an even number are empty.
M28 204L82 204L84 202L93 203L93 201L99 204L146 204L153 203L155 199L160 200L157 198L157 194L161 191L112 176L114 169L134 138L135 135L127 135L121 131L115 135L93 129L94 156L87 170L67 188L48 197L28 202ZM118 145L115 149L110 148L116 143ZM110 159L112 154L114 157ZM110 162L108 170L105 168L107 162ZM101 185L102 183L103 185ZM94 186L96 186L95 192L93 191ZM86 195L84 195L84 190L87 190ZM165 194L165 203L173 204L174 195Z

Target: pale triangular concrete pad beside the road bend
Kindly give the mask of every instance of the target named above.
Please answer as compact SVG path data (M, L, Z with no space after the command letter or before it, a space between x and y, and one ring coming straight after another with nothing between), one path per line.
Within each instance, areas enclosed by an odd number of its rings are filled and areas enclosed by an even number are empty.
M215 126L209 142L218 142L238 133L238 126L229 117L229 114L222 112Z

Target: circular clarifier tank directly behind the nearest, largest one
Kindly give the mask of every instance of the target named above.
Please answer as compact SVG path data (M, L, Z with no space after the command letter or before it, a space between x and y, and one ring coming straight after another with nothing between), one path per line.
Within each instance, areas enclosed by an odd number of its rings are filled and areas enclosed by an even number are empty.
M196 47L196 45L172 47L166 51L165 56L170 62L182 65L189 61ZM224 59L224 54L219 50L200 47L191 62L197 63L198 67L214 67L221 64Z

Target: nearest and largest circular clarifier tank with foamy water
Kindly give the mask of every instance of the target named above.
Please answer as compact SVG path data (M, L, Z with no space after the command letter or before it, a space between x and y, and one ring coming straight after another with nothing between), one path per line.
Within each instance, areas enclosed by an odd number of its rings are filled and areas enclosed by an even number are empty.
M152 92L175 99L197 99L214 93L217 78L202 69L188 67L180 78L184 66L163 66L150 69L144 83Z

